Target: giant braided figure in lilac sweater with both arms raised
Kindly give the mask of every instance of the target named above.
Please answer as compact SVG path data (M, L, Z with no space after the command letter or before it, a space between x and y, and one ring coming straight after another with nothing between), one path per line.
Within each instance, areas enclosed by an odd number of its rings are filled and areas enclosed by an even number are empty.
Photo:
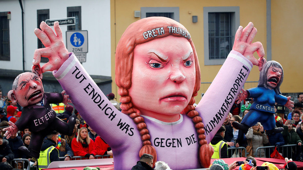
M169 18L140 19L117 45L121 113L68 53L58 22L57 35L44 22L40 27L35 34L46 48L35 51L33 64L39 64L41 56L49 58L42 72L53 71L84 120L111 146L114 168L119 170L131 169L143 153L172 169L208 167L213 148L207 143L224 122L253 64L259 65L253 53L264 56L260 42L251 44L257 29L252 23L245 29L240 26L233 50L195 108L201 77L189 32Z

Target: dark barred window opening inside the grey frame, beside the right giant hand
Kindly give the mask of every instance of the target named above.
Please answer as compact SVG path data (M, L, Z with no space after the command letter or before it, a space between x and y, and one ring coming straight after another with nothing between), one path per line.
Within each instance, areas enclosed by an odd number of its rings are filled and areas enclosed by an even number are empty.
M232 50L231 12L208 13L209 59L226 59Z

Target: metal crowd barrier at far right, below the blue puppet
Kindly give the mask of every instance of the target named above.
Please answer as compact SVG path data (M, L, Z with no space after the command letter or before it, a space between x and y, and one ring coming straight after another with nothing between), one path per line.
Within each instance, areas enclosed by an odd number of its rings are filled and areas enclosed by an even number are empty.
M293 145L283 145L277 147L277 151L279 153L282 153L282 156L285 158L287 157L288 159L292 158L294 159L297 153L297 148L298 145L293 144ZM270 158L271 153L274 151L275 146L264 146L264 147L258 147L256 149L256 152L254 153L255 157L261 157L262 152L264 152L264 155L266 158Z

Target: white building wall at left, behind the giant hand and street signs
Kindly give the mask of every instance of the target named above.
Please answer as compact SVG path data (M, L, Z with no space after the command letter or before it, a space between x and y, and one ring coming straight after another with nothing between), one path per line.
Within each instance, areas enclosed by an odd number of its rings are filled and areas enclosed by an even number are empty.
M23 1L25 12L25 70L30 70L33 54L37 48L37 38L34 34L34 30L37 27L37 10L49 9L50 19L58 19L67 17L66 7L69 6L81 6L81 27L82 30L88 31L88 53L86 62L83 63L84 68L91 75L111 76L110 0L52 0L51 2L41 0ZM12 48L11 45L11 61L7 62L8 64L5 64L3 68L22 70L22 39L20 38L22 37L21 10L19 2L17 0L0 1L0 12L7 11L6 9L11 8L14 9L14 11L11 10L12 19L10 21L10 35L13 35L10 39L11 44L14 44L15 48ZM66 44L67 26L61 26L61 29L63 32L64 43ZM15 65L14 60L16 59L18 59L18 64Z

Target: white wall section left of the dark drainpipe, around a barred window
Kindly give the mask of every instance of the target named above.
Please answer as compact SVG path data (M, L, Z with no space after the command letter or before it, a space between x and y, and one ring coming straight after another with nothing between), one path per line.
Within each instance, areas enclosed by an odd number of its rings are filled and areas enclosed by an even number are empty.
M1 0L0 12L11 11L10 27L10 61L0 60L0 68L22 70L22 20L19 1Z

